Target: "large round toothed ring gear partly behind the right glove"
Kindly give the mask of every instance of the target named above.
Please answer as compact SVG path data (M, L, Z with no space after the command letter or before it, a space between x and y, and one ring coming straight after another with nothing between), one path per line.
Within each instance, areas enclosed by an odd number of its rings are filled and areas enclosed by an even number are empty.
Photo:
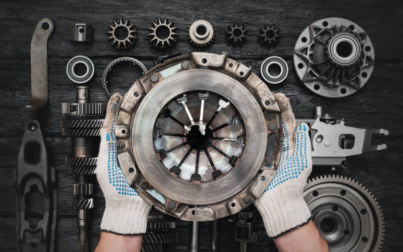
M380 251L383 214L359 182L343 176L317 177L308 181L304 200L330 251Z

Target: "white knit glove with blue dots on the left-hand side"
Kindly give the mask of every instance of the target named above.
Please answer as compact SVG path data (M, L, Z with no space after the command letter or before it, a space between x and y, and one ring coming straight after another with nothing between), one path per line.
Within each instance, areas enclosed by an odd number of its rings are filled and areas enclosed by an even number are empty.
M144 234L151 205L130 187L116 160L115 125L122 97L114 94L101 129L97 179L105 197L101 229L115 234Z

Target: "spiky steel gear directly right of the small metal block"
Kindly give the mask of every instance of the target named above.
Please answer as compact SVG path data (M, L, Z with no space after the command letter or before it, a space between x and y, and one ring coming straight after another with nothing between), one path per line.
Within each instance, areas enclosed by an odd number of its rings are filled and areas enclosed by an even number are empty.
M113 20L112 25L108 26L108 41L118 49L127 49L131 47L137 39L136 25L130 24L130 20L119 19ZM125 37L119 36L118 32L124 31Z

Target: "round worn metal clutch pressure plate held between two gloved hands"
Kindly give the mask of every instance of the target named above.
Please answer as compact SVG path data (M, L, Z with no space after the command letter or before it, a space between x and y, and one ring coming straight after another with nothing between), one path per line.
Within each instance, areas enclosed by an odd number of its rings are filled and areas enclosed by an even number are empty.
M124 96L118 161L150 204L183 220L234 214L272 181L279 107L249 67L195 52L154 67Z

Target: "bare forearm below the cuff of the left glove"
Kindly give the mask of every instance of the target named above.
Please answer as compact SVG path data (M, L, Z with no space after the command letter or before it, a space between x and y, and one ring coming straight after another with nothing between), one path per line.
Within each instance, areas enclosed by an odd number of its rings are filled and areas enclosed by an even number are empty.
M143 235L119 235L101 232L101 238L95 248L96 252L140 252Z

